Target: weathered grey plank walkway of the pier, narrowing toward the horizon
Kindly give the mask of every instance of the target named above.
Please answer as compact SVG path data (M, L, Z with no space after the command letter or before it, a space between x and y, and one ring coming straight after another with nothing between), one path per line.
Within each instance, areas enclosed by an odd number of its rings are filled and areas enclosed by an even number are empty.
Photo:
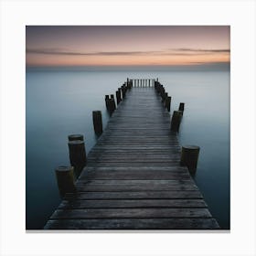
M133 80L45 229L219 229L153 82Z

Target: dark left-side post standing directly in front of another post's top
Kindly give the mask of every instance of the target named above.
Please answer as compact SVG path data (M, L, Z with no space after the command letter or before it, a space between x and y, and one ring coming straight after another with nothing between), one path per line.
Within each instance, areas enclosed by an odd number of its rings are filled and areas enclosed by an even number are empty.
M80 175L82 168L86 165L86 152L84 141L69 142L70 165L75 169L77 176Z

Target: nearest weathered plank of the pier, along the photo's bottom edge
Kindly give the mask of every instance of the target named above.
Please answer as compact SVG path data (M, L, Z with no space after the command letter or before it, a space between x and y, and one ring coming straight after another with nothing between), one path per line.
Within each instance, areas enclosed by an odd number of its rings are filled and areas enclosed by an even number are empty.
M215 219L52 219L45 229L219 229Z

